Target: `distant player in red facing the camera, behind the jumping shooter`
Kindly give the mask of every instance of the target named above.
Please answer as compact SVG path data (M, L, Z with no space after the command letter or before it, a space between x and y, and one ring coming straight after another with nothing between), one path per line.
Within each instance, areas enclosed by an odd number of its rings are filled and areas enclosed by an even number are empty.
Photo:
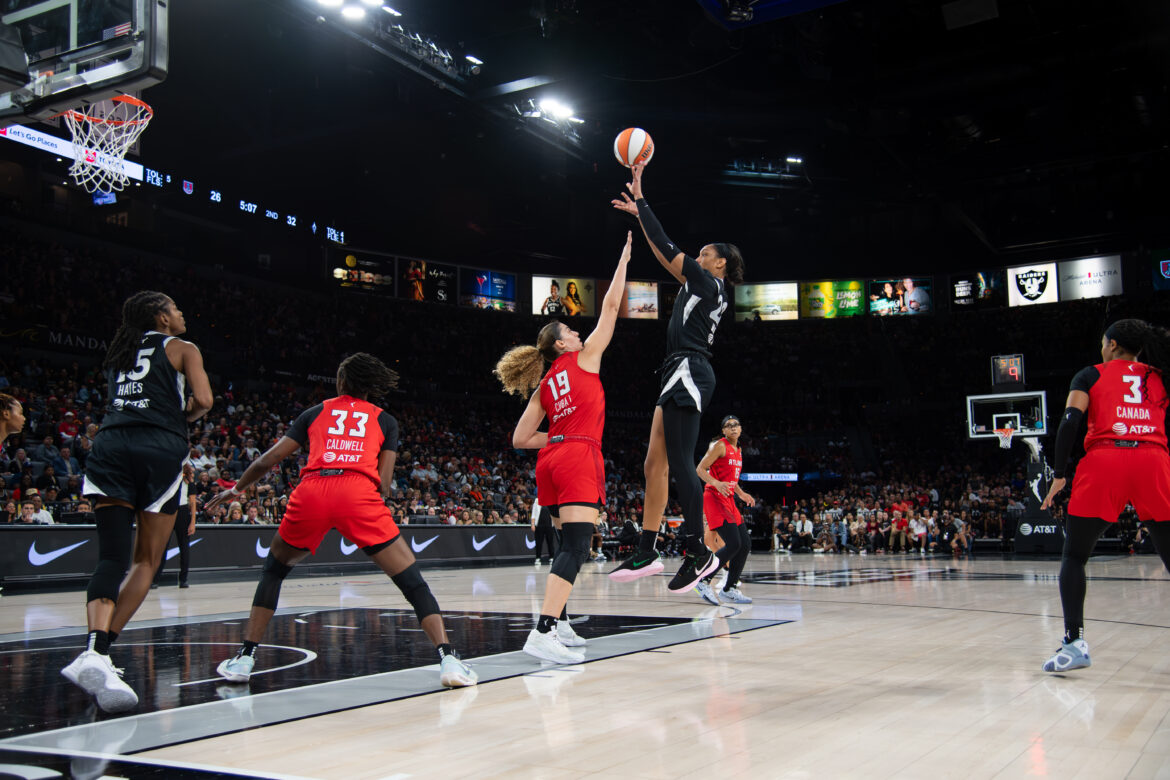
M703 517L707 527L723 541L720 558L728 561L728 579L718 593L711 587L715 572L695 586L698 595L714 605L718 605L720 599L751 603L751 598L741 593L738 587L743 565L751 552L751 534L735 505L735 496L748 506L756 505L756 499L739 486L739 472L743 470L743 450L739 449L742 432L739 417L734 414L723 417L723 437L711 442L703 460L695 467L698 478L703 481Z

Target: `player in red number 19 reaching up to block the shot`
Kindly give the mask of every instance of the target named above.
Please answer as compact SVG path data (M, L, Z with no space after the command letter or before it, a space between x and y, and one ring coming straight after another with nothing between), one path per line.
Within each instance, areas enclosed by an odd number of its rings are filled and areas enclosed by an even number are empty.
M552 320L541 329L536 346L509 350L496 364L504 391L531 393L516 423L512 446L538 449L536 457L537 501L548 506L560 526L560 547L552 559L541 617L524 643L524 651L553 663L580 663L585 654L566 647L584 646L565 614L577 572L589 555L594 524L605 506L605 463L601 432L605 429L605 389L598 371L601 356L613 338L618 309L626 291L626 265L633 234L626 234L621 260L601 302L597 327L581 341L577 331ZM545 363L552 364L548 372ZM532 391L536 391L535 393ZM537 430L549 417L549 432ZM559 620L559 622L558 622Z

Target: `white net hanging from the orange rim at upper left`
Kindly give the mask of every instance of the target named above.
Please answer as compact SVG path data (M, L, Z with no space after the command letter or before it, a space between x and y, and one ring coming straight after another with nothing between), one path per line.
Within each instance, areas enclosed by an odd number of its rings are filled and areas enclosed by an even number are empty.
M129 179L124 158L154 112L130 95L118 95L85 106L85 112L66 111L73 134L74 164L69 175L94 193L121 191Z

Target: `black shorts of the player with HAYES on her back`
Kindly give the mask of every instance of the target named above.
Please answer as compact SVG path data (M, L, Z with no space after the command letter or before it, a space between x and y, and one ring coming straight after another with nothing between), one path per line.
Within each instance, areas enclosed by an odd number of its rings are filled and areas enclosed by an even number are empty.
M85 458L87 498L119 498L136 510L171 515L179 509L183 458L188 444L150 426L99 430Z

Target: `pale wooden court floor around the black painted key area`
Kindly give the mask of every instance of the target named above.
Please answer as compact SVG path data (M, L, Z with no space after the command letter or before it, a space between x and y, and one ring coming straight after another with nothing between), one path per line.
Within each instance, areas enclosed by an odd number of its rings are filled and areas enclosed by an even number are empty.
M640 651L570 668L514 658L519 674L475 689L136 757L308 778L1170 778L1170 577L1155 557L1090 561L1094 665L1064 676L1040 671L1061 633L1055 560L753 554L744 608L672 595L665 577L617 585L610 566L584 567L574 619L684 620L644 631ZM445 610L511 613L522 627L546 573L426 575ZM406 607L376 574L288 585L282 612ZM250 593L250 581L163 587L138 619L245 612ZM0 634L77 627L82 600L5 595ZM669 635L655 644L655 631ZM357 653L379 651L350 634Z

